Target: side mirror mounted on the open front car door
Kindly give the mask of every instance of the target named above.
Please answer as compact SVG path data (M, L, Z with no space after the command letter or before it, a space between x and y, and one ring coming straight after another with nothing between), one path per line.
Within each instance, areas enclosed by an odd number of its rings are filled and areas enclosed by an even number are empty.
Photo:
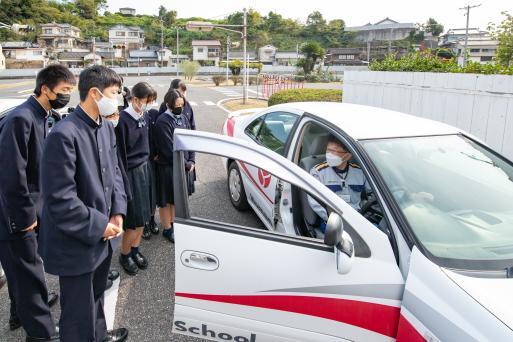
M353 267L354 245L349 234L344 232L344 221L337 213L331 213L326 222L324 243L335 249L337 272L349 273Z

